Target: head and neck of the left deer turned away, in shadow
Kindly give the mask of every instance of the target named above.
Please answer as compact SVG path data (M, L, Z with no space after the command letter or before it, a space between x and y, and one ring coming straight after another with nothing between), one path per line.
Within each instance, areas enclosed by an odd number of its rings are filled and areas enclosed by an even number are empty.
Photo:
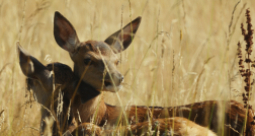
M44 66L36 58L30 56L19 47L19 43L17 45L20 67L24 75L27 76L27 87L29 90L33 90L34 99L42 105L40 133L45 131L46 124L44 120L50 118L51 114L53 114L54 118L57 118L55 119L57 122L54 122L53 134L66 130L68 124L72 121L72 115L69 120L67 117L71 99L69 97L72 97L75 92L74 90L79 79L75 78L69 66L61 63L51 63ZM57 78L54 79L52 71L54 71L54 75ZM55 89L53 88L53 83L55 83ZM83 91L86 90L85 95L80 91L81 89ZM78 93L81 92L79 95L83 96L84 102L100 93L84 82L81 82L77 90ZM61 97L63 110L57 111L57 107L61 105L61 102L58 102Z

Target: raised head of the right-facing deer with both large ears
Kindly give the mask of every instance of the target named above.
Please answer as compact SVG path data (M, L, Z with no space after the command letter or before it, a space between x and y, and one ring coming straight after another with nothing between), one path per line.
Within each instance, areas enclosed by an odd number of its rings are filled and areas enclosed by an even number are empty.
M54 36L58 45L69 52L75 75L98 90L114 92L121 88L124 79L116 68L117 53L128 48L140 22L141 17L136 18L104 41L80 42L72 24L55 12Z

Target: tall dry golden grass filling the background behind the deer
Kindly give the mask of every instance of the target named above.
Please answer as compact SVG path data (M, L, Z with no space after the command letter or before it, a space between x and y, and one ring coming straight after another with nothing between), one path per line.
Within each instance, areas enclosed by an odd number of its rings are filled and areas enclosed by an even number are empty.
M241 102L244 89L237 43L244 46L240 24L246 21L246 8L250 8L255 24L255 1L238 2L1 0L0 135L39 134L40 105L26 90L16 42L43 64L61 62L73 67L53 36L55 11L73 24L81 41L104 40L137 16L142 17L131 46L119 55L125 81L118 95L124 106ZM104 95L107 103L120 103L116 94ZM254 95L251 103L255 104Z

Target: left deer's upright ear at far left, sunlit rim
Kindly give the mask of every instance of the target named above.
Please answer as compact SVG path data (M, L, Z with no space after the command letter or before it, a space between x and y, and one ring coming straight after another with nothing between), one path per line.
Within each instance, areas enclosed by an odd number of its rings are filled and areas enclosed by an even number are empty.
M17 43L19 64L23 74L29 78L38 79L42 82L49 81L51 72L36 58L26 53Z

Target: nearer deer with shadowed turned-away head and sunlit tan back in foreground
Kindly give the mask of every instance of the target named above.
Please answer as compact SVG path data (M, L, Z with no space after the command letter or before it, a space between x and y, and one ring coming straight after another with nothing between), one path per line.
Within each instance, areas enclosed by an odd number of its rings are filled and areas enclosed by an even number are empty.
M34 57L25 53L20 47L19 50L19 59L20 67L23 73L27 76L27 86L34 91L35 99L41 105L42 108L42 132L41 134L52 135L61 135L64 133L65 136L72 134L83 136L87 135L115 135L115 133L122 133L124 135L142 135L142 134L153 134L153 133L168 133L175 136L216 136L212 131L207 128L201 127L192 121L189 121L185 118L168 118L168 119L158 119L152 120L151 122L145 121L128 127L122 127L116 130L107 130L103 131L101 127L91 124L91 123L82 123L77 128L72 124L72 117L68 119L70 106L70 100L75 95L75 99L82 99L83 102L92 99L97 96L99 92L93 89L90 85L86 83L81 83L78 87L78 94L73 94L77 86L77 78L74 77L74 74L71 68L67 65L61 63L51 63L46 67L41 64ZM54 73L54 77L53 77ZM55 81L55 82L53 82ZM55 83L55 84L54 84ZM53 85L56 85L55 92ZM85 94L80 93L80 91L86 92ZM59 101L59 94L63 94L63 99ZM53 101L51 100L53 98ZM59 104L63 102L63 107L58 108ZM53 106L53 109L51 108ZM51 110L52 109L52 110ZM63 109L63 110L62 110ZM59 110L59 111L58 111ZM56 114L61 116L57 116ZM50 115L53 114L53 115ZM72 113L70 113L72 116ZM46 131L46 124L44 121L46 118L51 117L57 118L54 122L52 132Z

